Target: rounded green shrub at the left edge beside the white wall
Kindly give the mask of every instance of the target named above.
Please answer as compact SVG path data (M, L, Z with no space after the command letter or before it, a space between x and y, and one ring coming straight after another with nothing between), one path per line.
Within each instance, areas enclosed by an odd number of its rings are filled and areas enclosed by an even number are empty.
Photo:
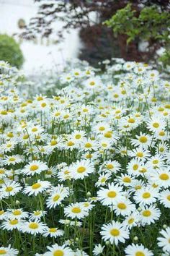
M0 60L8 61L17 68L22 67L24 62L19 43L9 35L0 35Z

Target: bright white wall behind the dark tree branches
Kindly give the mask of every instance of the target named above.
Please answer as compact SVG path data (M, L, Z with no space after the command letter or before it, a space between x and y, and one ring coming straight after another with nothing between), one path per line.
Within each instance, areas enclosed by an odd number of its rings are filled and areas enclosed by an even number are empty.
M18 20L23 18L29 22L36 11L37 5L33 0L0 0L0 33L13 35L19 32ZM56 29L58 30L61 25L61 22L57 22ZM40 67L50 69L56 64L63 64L66 59L76 58L80 46L78 30L71 30L71 33L66 34L64 42L57 45L46 46L45 43L41 45L24 41L21 44L25 59L24 72L37 72Z

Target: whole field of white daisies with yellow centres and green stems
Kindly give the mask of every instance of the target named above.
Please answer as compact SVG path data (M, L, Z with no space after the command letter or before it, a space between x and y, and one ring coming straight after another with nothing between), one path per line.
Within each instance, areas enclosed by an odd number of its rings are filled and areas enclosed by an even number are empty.
M0 61L0 255L169 256L170 82L104 64L48 97Z

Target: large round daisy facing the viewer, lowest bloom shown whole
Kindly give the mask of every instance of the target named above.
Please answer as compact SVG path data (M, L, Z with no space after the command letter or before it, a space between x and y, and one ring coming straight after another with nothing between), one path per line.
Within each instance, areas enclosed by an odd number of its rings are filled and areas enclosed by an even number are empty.
M125 243L125 239L129 238L129 231L120 222L112 221L104 224L100 232L104 241L109 240L111 244L117 245L119 242Z

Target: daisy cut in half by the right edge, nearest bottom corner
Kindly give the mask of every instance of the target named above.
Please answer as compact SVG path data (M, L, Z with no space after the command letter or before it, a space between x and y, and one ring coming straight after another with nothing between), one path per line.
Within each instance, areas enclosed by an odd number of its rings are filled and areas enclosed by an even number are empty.
M158 246L161 247L164 252L170 253L170 227L162 229L160 234L161 237L158 237Z

